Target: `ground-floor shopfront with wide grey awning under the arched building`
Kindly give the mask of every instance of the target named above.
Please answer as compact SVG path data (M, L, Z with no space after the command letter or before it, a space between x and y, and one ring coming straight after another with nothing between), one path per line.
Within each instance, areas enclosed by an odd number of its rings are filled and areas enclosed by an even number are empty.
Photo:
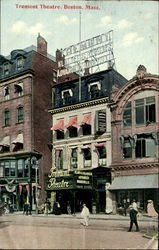
M124 200L131 203L135 199L141 211L146 212L148 200L153 200L155 209L159 211L157 174L116 177L109 191L116 194L114 209L122 207Z

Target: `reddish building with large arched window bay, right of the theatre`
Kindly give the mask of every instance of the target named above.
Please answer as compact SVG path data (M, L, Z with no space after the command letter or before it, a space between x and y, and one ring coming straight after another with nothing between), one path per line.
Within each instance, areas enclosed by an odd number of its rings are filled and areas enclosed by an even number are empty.
M147 200L158 207L159 78L140 65L135 77L113 98L112 184L114 211L135 199L146 211Z

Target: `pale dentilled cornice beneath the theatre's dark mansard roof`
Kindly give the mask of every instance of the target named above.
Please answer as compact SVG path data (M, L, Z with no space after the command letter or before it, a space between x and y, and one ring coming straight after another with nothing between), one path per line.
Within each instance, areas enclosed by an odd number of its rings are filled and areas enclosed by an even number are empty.
M80 109L80 108L95 106L95 105L99 105L99 104L103 104L103 103L109 103L109 97L104 97L101 99L96 99L96 100L83 102L83 103L77 103L74 105L60 107L60 108L53 108L53 109L49 109L48 112L51 114L57 114L57 113L67 112L70 110L76 110L76 109Z

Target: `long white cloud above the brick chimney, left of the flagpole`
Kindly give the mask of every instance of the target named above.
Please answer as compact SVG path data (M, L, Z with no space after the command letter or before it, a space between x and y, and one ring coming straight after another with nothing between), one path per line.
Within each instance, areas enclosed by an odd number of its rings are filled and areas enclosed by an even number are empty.
M23 21L16 21L10 28L10 31L13 33L28 33L28 34L37 34L40 32L43 35L51 34L51 32L47 31L45 26L41 23L36 23L33 26L29 26L27 23Z

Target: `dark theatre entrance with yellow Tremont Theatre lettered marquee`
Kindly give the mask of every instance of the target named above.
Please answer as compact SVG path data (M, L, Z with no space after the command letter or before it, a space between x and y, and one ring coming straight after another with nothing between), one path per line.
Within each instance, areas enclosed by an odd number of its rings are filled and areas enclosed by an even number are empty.
M110 170L95 168L92 171L58 171L47 176L47 197L52 207L56 201L62 213L80 212L85 203L90 212L106 211L106 183L110 183Z

